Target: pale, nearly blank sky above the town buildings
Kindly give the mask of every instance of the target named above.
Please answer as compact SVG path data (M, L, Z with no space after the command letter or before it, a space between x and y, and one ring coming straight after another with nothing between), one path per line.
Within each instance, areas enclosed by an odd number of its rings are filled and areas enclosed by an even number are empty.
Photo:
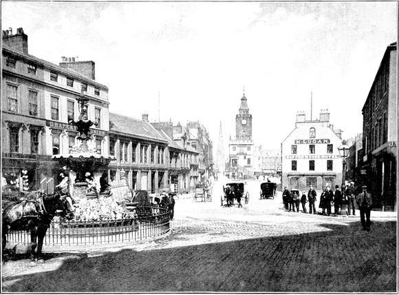
M225 144L235 135L245 86L255 143L279 148L297 111L310 119L311 92L313 119L328 109L343 138L362 132L371 83L398 39L397 6L2 1L1 25L22 27L35 57L94 61L96 81L109 87L110 112L200 121L214 150L220 122Z

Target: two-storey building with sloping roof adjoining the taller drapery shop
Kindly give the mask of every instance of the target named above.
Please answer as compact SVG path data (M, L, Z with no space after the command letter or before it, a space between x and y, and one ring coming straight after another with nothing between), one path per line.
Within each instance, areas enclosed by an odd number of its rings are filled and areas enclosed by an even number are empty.
M116 161L109 164L111 183L133 190L159 192L168 187L168 141L148 122L109 113L109 154Z

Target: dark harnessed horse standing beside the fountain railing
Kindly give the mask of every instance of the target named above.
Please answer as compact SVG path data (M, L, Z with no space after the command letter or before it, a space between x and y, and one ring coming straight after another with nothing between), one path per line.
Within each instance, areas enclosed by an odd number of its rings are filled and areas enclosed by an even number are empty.
M43 247L43 239L47 228L50 227L52 218L56 214L68 210L67 203L61 198L59 192L47 195L42 191L36 192L36 199L33 200L19 202L3 200L3 252L6 247L9 230L30 230L32 242L30 259L31 261L43 261L41 248Z

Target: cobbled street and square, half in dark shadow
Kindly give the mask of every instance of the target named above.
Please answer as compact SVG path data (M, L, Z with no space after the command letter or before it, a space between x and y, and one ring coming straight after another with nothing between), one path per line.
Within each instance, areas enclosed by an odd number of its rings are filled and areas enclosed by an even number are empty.
M363 232L358 216L250 195L243 208L179 199L171 235L151 243L9 261L3 292L397 292L395 215L372 212Z

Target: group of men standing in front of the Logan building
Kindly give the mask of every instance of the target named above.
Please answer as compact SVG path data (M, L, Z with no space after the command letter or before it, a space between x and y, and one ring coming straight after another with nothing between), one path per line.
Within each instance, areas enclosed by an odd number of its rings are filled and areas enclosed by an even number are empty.
M314 187L310 185L308 195L305 192L302 192L301 198L299 198L298 194L291 194L287 187L284 187L283 191L283 203L285 210L299 212L299 203L302 204L303 213L307 213L305 203L309 202L309 214L317 214L315 202L317 201L317 192L314 190ZM335 192L332 192L330 189L330 185L325 187L323 193L320 196L319 208L321 208L321 214L327 214L328 216L332 215L331 207L334 204L334 215L338 215L340 210L346 210L347 214L355 214L355 203L358 205L358 209L360 211L360 221L363 227L363 230L370 230L370 212L371 206L373 204L371 195L367 192L367 186L362 186L362 192L360 194L356 194L356 189L354 187L354 182L350 182L349 185L345 186L345 190L342 192L339 188L339 185L335 186Z

